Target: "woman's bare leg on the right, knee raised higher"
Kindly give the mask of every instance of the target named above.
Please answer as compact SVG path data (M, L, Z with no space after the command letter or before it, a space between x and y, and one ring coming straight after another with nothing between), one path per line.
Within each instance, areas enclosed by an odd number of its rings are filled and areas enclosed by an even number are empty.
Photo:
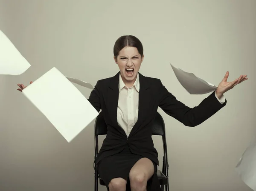
M154 174L154 165L148 158L138 160L131 168L129 179L131 191L146 191L147 182Z

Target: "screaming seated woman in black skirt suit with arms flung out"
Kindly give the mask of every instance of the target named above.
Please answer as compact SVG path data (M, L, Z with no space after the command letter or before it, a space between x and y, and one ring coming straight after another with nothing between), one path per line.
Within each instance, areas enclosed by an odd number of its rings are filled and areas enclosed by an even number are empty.
M209 97L189 108L176 100L159 79L139 73L144 58L139 39L131 35L120 37L113 53L120 71L114 77L99 80L88 99L97 111L102 110L108 125L96 160L99 176L110 191L160 191L156 175L158 154L151 138L157 108L186 126L199 125L226 105L223 94L247 80L247 76L227 82L227 72ZM19 91L25 88L23 84L18 86Z

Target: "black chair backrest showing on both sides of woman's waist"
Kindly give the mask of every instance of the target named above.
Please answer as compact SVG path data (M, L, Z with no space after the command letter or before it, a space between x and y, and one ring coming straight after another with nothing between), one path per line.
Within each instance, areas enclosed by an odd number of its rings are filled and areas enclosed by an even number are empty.
M95 135L106 135L107 132L107 124L105 123L102 112L100 112L95 120ZM165 135L165 124L163 117L158 112L152 123L152 135Z

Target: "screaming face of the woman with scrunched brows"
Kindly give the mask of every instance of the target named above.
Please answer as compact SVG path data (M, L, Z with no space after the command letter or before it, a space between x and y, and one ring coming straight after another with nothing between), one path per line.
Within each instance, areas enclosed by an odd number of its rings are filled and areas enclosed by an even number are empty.
M114 57L118 65L124 83L134 83L143 61L143 57L135 47L126 46L117 57Z

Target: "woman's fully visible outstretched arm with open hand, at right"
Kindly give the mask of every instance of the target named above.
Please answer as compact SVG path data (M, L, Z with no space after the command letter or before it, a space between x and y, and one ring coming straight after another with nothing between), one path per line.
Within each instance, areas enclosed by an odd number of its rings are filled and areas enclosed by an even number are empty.
M184 125L195 127L203 123L227 104L227 100L225 100L223 104L218 100L221 99L226 91L247 80L246 75L241 75L233 82L227 82L228 75L229 73L227 72L218 88L194 108L189 108L178 101L160 82L159 107L162 108L166 114L174 117Z

